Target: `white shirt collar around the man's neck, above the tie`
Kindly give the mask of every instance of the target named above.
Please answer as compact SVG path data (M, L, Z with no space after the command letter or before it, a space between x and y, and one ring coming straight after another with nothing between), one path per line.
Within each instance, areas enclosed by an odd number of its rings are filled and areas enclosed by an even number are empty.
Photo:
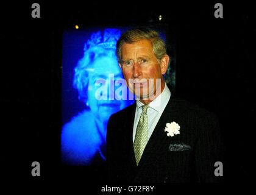
M169 90L165 83L165 88L163 89L162 93L159 96L157 96L157 98L155 98L152 102L149 103L149 107L153 108L157 112L161 112L163 110L163 105L166 105L170 98L171 91ZM137 110L143 105L144 104L141 101L136 101Z

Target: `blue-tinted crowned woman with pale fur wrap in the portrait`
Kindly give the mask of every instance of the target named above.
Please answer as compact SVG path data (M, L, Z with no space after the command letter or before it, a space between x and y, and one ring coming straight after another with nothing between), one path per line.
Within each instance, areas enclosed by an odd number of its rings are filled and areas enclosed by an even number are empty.
M62 161L68 165L93 165L105 161L107 122L113 113L132 104L132 101L110 99L113 91L107 90L107 98L97 98L97 80L104 79L109 89L109 75L123 79L116 58L116 41L121 35L118 29L104 29L91 34L84 47L84 57L74 68L73 87L85 110L74 116L62 128ZM116 86L114 87L116 88ZM101 94L102 95L102 94Z

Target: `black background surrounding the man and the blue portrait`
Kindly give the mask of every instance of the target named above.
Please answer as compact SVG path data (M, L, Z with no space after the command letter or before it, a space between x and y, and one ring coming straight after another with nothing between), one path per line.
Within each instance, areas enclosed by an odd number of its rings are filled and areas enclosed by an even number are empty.
M176 96L217 114L225 183L252 181L255 5L222 3L224 18L215 18L215 3L38 2L41 18L32 18L32 3L1 4L0 177L104 181L101 168L60 163L63 29L167 24L176 40ZM31 176L33 161L40 162L41 177Z

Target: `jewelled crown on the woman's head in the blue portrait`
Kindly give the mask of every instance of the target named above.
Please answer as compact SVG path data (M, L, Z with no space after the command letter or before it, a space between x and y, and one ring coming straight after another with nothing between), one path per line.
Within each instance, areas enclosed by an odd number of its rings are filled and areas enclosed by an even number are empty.
M119 29L104 29L91 34L84 46L84 52L94 46L100 46L105 49L116 49L116 42L121 36Z

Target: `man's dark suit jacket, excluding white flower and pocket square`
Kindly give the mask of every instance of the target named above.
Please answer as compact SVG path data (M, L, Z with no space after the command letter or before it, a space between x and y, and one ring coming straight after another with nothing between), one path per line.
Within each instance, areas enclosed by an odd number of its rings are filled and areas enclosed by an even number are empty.
M108 182L216 182L215 162L222 160L218 122L212 113L171 98L137 166L133 152L136 104L112 115L107 129ZM177 122L180 134L168 137L166 123ZM171 144L171 145L170 145ZM173 151L174 144L190 146Z

